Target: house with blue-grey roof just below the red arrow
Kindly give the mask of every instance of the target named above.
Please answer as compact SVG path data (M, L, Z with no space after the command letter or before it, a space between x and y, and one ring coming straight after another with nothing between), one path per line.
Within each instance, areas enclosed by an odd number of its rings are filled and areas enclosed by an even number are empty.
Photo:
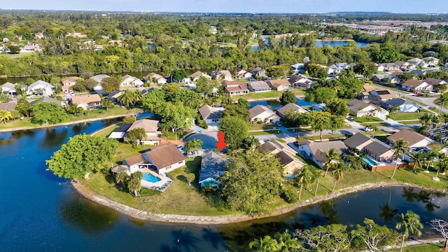
M218 179L224 172L225 164L229 158L223 158L213 151L202 156L201 169L199 171L199 184L201 188L218 188Z

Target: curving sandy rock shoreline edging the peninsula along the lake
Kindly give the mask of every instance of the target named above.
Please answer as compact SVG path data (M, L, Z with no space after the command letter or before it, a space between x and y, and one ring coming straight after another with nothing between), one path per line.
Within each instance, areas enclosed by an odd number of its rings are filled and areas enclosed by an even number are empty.
M353 186L351 188L344 188L341 190L337 190L334 193L330 193L328 195L311 197L309 200L304 200L294 204L292 206L279 207L272 214L262 215L262 216L249 216L244 214L233 214L233 215L225 215L225 216L186 216L180 214L155 214L148 211L144 211L141 209L136 209L134 207L127 206L125 204L121 204L119 202L115 202L110 200L102 195L98 195L94 193L90 188L87 188L82 181L71 181L71 185L76 191L83 195L87 200L91 200L93 202L97 202L98 204L102 204L105 207L109 207L114 209L115 211L120 212L121 214L125 214L127 216L131 216L132 218L137 218L143 221L155 221L155 222L165 222L165 223L189 223L189 224L197 224L197 225L219 225L219 224L230 224L230 223L239 223L244 221L252 221L260 218L267 218L272 216L279 216L281 214L286 214L290 211L294 211L297 208L305 207L310 204L316 204L318 202L322 202L325 200L331 200L333 198L341 197L343 195L347 195L349 193L356 193L362 190L373 189L373 188L382 188L382 187L390 187L390 186L412 186L416 188L421 188L424 190L436 190L433 188L426 188L423 186L415 186L409 183L400 183L400 182L379 182L379 183L365 183L363 185ZM442 191L442 190L440 190Z

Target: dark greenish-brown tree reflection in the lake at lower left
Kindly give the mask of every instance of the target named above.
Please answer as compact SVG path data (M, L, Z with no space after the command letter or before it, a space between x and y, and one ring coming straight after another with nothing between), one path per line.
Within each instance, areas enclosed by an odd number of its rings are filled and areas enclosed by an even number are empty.
M118 213L102 205L85 200L73 193L59 204L62 220L85 235L99 235L111 230L118 221Z

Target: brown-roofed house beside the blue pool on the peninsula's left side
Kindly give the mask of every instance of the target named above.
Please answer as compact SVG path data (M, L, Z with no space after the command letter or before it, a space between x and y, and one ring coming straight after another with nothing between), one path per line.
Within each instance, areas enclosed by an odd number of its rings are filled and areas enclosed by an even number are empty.
M158 174L166 174L185 165L185 156L174 144L160 144L151 148L144 155L155 166Z

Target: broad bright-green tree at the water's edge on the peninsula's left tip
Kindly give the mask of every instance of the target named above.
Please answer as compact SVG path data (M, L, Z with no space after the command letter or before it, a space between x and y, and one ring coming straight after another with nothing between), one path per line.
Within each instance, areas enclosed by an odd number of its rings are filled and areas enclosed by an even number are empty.
M115 139L78 134L63 144L46 164L59 177L84 179L90 172L104 169L103 163L111 160L117 149Z

